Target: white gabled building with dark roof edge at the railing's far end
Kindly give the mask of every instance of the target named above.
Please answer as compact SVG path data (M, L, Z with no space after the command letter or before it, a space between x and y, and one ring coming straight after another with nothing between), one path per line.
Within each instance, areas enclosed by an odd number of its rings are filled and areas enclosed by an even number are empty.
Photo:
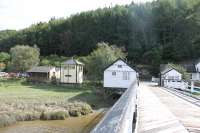
M104 87L128 88L136 80L136 75L136 71L119 58L104 70Z

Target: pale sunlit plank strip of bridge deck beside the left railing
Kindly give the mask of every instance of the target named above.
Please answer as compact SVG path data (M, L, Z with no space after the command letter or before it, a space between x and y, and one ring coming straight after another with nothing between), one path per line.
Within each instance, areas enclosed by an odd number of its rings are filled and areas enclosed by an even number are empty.
M141 84L138 89L138 133L188 133L160 99Z

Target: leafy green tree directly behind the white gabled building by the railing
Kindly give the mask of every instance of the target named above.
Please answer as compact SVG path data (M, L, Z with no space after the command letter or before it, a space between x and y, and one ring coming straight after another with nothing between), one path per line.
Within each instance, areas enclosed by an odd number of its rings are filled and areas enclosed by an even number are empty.
M84 58L83 61L88 77L94 81L101 81L104 68L117 58L125 58L126 54L121 48L109 46L108 43L102 42L97 45L97 49Z

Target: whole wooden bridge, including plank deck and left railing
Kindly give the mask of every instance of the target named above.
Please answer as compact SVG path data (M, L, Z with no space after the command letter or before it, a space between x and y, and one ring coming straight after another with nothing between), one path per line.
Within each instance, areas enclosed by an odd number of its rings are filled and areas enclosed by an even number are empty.
M200 107L193 104L200 100L191 101L135 81L91 133L200 133Z

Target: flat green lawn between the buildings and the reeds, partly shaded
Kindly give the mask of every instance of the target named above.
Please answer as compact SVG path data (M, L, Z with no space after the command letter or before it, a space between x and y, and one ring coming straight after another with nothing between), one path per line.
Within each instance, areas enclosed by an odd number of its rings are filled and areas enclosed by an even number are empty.
M101 93L97 93L99 91L96 90L96 87L88 84L58 86L51 84L30 84L19 79L1 79L0 104L64 105L80 101L92 105L95 109L109 106L110 103L103 98Z

